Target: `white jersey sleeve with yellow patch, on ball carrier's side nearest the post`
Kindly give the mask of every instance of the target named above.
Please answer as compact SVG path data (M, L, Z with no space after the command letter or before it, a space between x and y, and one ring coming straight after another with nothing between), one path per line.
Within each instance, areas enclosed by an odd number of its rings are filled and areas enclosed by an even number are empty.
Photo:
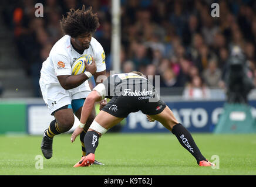
M100 43L97 43L97 48L96 48L96 54L95 54L95 63L97 70L96 72L101 72L106 70L106 57L105 57L105 52L103 50L103 47Z

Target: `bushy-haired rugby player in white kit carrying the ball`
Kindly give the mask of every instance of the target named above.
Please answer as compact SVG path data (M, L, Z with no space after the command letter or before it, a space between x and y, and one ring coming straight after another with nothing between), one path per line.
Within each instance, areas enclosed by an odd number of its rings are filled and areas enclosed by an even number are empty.
M50 115L55 120L43 133L41 150L45 158L52 157L53 137L70 130L75 121L73 114L80 119L83 103L91 92L87 79L106 75L105 53L101 44L92 37L99 27L99 19L92 8L70 9L66 18L60 20L63 36L55 43L49 57L43 62L39 84L43 100ZM72 65L83 54L93 57L91 65L86 64L83 74L72 75ZM99 83L96 81L96 84ZM82 154L85 155L83 137L95 118L95 110L89 115L83 133L80 134ZM100 164L95 162L95 164Z

